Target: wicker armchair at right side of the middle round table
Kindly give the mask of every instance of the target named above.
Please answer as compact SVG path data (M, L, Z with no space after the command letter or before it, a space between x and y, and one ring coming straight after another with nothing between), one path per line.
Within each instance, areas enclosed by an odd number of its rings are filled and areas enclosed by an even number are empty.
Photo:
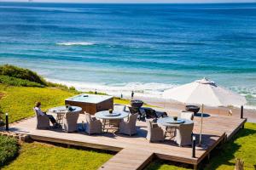
M136 129L136 122L137 122L137 113L133 114L129 116L128 121L121 121L119 123L119 133L122 134L128 134L128 135L132 135L132 134L136 134L137 133L137 129Z

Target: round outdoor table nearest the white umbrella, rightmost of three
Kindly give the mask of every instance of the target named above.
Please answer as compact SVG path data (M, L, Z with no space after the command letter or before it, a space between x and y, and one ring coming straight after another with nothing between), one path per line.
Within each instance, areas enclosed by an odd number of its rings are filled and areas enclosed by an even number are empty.
M165 136L166 136L166 133L175 133L176 129L180 126L180 124L192 124L192 123L194 122L191 120L181 119L181 118L177 118L177 121L175 121L173 116L161 117L157 120L158 126L166 128Z

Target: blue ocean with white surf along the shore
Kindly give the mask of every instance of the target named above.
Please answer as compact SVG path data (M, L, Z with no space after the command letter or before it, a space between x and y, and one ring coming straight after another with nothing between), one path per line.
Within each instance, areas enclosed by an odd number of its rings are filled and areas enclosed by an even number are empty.
M256 106L256 3L0 3L0 65L160 97L207 77Z

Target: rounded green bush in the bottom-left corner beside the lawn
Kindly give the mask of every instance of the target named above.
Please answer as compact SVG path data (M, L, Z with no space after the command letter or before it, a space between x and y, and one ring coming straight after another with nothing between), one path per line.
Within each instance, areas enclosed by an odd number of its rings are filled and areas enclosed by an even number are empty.
M0 167L17 156L19 145L13 138L0 135Z

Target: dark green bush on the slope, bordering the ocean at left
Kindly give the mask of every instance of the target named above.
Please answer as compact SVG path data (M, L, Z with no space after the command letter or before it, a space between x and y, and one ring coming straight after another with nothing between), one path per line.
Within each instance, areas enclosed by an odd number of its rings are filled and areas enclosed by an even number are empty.
M46 86L47 82L43 77L39 77L36 72L28 69L23 69L14 65L2 65L0 66L0 75L20 78L30 82L38 82L41 85Z

